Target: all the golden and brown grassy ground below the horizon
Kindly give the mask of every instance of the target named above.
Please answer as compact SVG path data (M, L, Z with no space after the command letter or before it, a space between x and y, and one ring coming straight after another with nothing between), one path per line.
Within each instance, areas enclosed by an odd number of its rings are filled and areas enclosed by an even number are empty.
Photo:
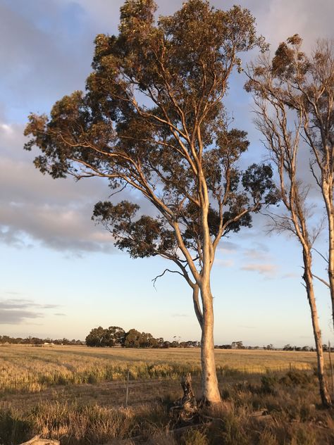
M178 372L194 371L194 391L200 395L197 350L3 346L0 355L2 376L8 382L8 369L15 370L12 386L0 394L3 445L18 444L35 434L60 439L62 445L106 444L115 438L124 439L124 444L156 445L334 443L334 411L318 406L313 353L217 351L223 406L207 413L211 418L207 425L176 435L171 430L185 426L169 415L173 401L182 396ZM152 366L160 374L149 372ZM132 380L125 408L123 371L127 368L132 370ZM56 378L44 378L38 391L13 385L14 377L30 377L34 369L36 384L43 375L57 372L70 379L57 384ZM118 379L106 379L106 369L118 370ZM96 380L82 383L78 378L92 371Z

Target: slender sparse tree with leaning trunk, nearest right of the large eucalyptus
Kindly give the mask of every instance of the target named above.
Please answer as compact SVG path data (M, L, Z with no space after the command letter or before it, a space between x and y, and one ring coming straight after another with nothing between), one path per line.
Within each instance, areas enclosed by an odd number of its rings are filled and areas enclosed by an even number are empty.
M281 90L275 89L276 84L272 77L271 61L263 59L261 69L262 71L257 67L252 68L252 73L249 75L250 81L248 88L249 91L255 93L257 106L256 125L266 137L266 148L273 162L276 164L280 181L280 193L283 204L287 210L285 214L271 214L272 227L273 230L278 232L292 233L302 247L304 265L303 280L311 309L321 403L323 403L323 406L330 407L332 403L326 382L321 330L314 295L314 275L312 275L311 256L311 249L321 230L321 224L319 224L318 227L310 228L311 205L307 202L308 186L302 183L298 177L300 172L297 170L299 136L300 130L304 125L304 113L302 111L297 113L295 128L292 130L288 118L289 106L286 104L285 99L282 99L280 96L279 92L281 92ZM259 78L256 77L255 73L261 73ZM264 75L264 73L266 73L266 75ZM261 77L261 75L263 75L263 77ZM270 104L269 107L268 104ZM312 170L312 173L314 173L314 170ZM329 201L328 208L330 208ZM330 220L330 218L328 218L328 220ZM330 268L328 268L328 272L329 269Z

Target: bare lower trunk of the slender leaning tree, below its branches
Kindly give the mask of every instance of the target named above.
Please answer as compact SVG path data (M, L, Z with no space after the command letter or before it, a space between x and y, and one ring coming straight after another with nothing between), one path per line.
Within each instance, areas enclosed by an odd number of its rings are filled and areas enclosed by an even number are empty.
M317 360L317 373L319 390L321 396L321 402L323 406L329 408L332 403L330 400L330 394L328 392L328 386L325 375L325 367L323 361L323 344L321 339L321 330L318 322L318 311L316 308L316 299L314 296L314 287L311 274L311 254L303 253L304 259L304 282L307 289L307 299L309 300L309 307L311 308L312 327L314 332L314 341L316 342L316 360Z

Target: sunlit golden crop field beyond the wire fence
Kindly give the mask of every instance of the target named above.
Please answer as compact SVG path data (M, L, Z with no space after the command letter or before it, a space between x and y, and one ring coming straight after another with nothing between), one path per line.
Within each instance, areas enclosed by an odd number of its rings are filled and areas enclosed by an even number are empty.
M130 379L176 379L185 372L199 375L199 349L123 349L87 346L35 347L4 345L0 348L1 391L38 392L54 384L81 384ZM216 350L219 375L311 370L312 352Z

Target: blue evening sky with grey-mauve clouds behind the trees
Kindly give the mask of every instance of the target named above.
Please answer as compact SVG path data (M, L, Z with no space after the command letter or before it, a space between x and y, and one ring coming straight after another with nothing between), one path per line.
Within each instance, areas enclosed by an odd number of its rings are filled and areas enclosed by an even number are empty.
M0 0L0 335L85 339L93 327L135 328L155 337L200 339L190 288L178 275L152 279L168 263L129 258L91 220L94 203L108 199L104 182L52 180L23 150L27 115L49 113L54 102L84 89L97 34L116 34L121 0ZM158 0L158 13L180 0ZM227 9L230 0L211 1ZM333 39L332 0L245 0L259 34L275 51L298 33L311 50ZM247 63L250 57L242 57ZM234 74L226 105L251 142L245 162L266 152L252 123L245 75ZM307 174L307 172L305 173ZM131 198L130 192L125 198ZM123 196L124 197L124 196ZM294 239L268 234L256 216L252 230L223 240L212 273L215 342L262 346L314 344ZM316 247L326 251L326 232ZM315 257L317 275L325 264ZM316 283L323 340L334 343L330 297Z

